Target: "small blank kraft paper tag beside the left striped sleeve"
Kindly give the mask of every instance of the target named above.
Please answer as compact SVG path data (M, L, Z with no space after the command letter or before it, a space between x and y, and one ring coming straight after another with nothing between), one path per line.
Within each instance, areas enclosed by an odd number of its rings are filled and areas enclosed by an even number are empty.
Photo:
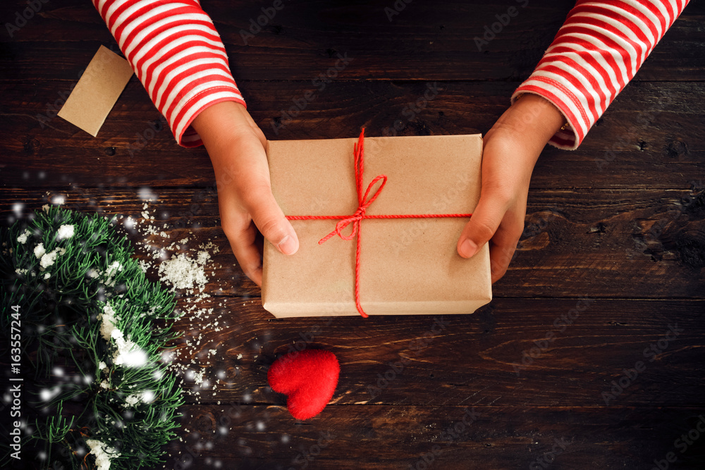
M59 116L96 137L132 75L128 61L101 46L73 87Z

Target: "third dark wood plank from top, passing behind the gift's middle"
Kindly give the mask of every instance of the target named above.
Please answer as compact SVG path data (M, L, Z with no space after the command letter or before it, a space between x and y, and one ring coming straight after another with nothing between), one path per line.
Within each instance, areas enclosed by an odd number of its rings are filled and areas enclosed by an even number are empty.
M705 182L698 184L694 190L532 190L524 236L508 273L494 285L494 295L705 298ZM219 283L207 285L207 292L259 295L236 266L219 228L212 188L153 191L159 199L148 203L149 213L159 222L147 225L156 225L157 234L146 234L145 225L130 235L133 241L164 247L188 237L183 251L210 240L221 252L212 263L212 277ZM25 204L26 213L56 194L63 194L72 209L121 214L145 223L145 202L137 190L82 187L49 195L0 190L0 220L14 217L16 202ZM162 230L168 239L159 235Z

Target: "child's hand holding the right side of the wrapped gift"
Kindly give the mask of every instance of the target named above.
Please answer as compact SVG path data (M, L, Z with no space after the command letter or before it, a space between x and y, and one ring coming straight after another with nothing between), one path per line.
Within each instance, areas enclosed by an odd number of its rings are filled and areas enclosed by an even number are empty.
M507 271L524 230L534 164L563 123L556 106L538 95L525 94L484 137L482 193L458 240L458 254L470 258L491 239L493 283Z

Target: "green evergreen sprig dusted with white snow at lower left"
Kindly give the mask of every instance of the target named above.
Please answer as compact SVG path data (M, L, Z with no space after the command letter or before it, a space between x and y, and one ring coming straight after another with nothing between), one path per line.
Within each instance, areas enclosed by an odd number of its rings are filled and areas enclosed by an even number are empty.
M22 456L42 452L42 468L56 462L73 469L96 466L86 440L116 451L111 470L154 466L164 462L161 446L176 438L183 397L161 361L166 343L180 337L170 331L178 319L176 302L147 280L115 223L115 218L52 207L0 236L0 328L9 338L11 307L19 306L22 370L34 371L36 388L35 400L25 402L23 394L22 419L35 416L36 431L23 436ZM73 236L58 237L62 225L73 225ZM115 328L144 355L142 364L114 363L116 340L102 335L106 311L114 312ZM57 374L51 373L60 361L79 380L56 384ZM8 449L0 461L4 467L12 450L5 440L3 446Z

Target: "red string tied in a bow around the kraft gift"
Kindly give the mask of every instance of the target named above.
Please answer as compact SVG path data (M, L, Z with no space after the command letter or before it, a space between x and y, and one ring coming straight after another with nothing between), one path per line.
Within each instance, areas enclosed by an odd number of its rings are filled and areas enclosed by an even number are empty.
M352 240L355 235L357 235L357 248L355 249L355 306L357 311L360 312L364 318L367 318L367 314L362 310L362 305L360 305L360 222L364 218L439 218L439 217L470 217L472 214L402 214L402 215L381 215L381 216L368 216L365 214L367 208L374 202L379 194L384 189L384 185L387 183L386 175L378 175L374 180L370 181L367 185L367 191L362 194L362 171L364 170L364 128L360 131L360 137L357 143L353 145L353 156L355 157L355 187L357 189L357 211L352 216L286 216L290 221L309 221L314 219L341 219L336 223L336 228L331 233L321 238L318 244L329 240L331 237L338 235L343 240ZM372 193L370 197L369 192L372 191L372 187L381 180L382 183L377 187L377 189ZM369 199L368 199L369 198ZM341 230L345 229L350 223L353 224L353 231L350 235L343 235Z

